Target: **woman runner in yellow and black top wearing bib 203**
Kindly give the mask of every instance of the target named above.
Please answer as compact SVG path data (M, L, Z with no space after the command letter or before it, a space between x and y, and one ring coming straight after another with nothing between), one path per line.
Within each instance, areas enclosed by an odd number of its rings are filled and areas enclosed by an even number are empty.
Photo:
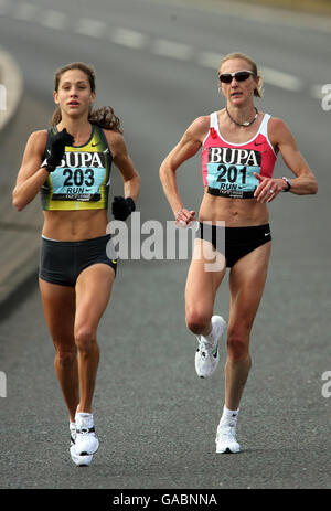
M22 211L41 191L40 290L70 413L72 459L89 465L99 444L92 414L99 362L97 327L117 268L117 260L106 254L111 162L124 179L125 196L113 203L116 220L135 211L140 179L113 109L92 111L93 67L77 62L62 67L54 88L58 107L52 128L30 136L13 205Z

